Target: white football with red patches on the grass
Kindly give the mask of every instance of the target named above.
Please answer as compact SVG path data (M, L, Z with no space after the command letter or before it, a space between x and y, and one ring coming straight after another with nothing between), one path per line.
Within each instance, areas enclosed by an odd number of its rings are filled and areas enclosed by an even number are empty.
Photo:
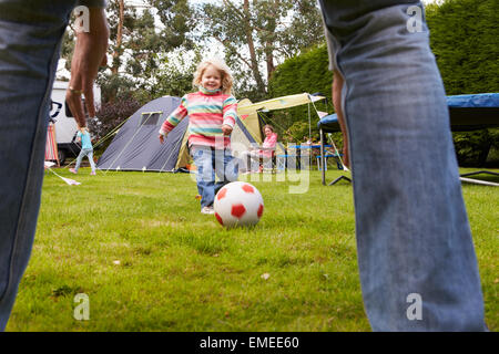
M213 204L215 218L226 228L256 225L262 218L264 204L255 186L233 181L222 187Z

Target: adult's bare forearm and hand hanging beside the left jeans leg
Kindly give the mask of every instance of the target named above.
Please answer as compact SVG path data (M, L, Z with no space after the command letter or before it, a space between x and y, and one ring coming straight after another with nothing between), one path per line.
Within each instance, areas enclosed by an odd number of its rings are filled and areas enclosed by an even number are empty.
M71 80L65 93L65 100L79 127L86 126L81 95L85 97L89 115L95 116L93 82L99 66L106 64L109 28L104 9L91 8L89 23L89 32L77 33L77 44L71 61Z

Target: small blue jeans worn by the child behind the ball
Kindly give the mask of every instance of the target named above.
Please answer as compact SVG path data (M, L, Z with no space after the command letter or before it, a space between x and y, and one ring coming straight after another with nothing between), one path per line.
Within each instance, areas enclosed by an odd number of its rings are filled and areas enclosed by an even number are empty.
M196 184L201 208L213 206L216 192L226 184L237 180L238 164L231 149L192 146L191 154L197 167ZM216 177L218 181L216 181Z

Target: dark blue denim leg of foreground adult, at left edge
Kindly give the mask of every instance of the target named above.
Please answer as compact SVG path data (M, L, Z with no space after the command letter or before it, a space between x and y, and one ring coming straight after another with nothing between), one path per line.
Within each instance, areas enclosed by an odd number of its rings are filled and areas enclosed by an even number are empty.
M52 83L74 3L0 0L0 330L31 253Z

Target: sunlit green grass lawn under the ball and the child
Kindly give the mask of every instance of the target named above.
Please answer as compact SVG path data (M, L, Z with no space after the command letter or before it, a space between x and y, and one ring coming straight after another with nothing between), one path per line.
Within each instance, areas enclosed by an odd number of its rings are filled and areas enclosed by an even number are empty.
M251 181L265 200L261 222L225 230L200 214L190 175L57 171L82 185L45 175L7 331L370 331L349 184L322 186L318 171L305 194ZM464 194L486 321L498 331L499 188L465 184ZM88 321L73 317L78 293Z

